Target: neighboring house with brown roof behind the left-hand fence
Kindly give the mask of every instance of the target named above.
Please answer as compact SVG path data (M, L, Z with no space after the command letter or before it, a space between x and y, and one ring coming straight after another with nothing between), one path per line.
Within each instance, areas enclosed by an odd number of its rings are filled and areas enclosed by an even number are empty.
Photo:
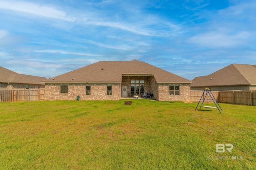
M0 89L35 89L44 88L45 77L18 74L0 66Z

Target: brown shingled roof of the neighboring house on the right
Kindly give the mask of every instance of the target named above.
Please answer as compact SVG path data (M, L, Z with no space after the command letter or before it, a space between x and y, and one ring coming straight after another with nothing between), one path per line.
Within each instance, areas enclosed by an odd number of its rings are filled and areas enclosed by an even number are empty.
M230 64L208 76L196 77L191 87L256 85L256 65Z

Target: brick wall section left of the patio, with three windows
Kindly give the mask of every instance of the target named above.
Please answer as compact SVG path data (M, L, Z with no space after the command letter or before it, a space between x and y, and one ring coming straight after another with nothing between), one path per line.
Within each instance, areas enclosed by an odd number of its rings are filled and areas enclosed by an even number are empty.
M60 93L60 86L67 85L68 93ZM86 85L91 86L91 94L86 95ZM107 86L112 86L112 95L107 95ZM115 84L46 84L45 100L119 100L121 88L118 83Z

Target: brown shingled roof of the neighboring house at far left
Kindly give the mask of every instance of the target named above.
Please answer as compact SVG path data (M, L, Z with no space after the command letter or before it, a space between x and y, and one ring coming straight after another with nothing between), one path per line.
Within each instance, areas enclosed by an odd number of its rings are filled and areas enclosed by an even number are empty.
M18 74L0 66L0 82L5 83L21 83L21 84L44 84L42 81L47 80L45 77L30 76L26 74Z

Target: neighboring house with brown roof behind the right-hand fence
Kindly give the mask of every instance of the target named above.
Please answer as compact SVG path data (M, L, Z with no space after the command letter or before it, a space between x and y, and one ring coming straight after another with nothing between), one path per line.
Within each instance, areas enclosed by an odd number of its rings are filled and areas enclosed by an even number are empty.
M208 76L192 80L191 90L256 90L256 65L230 64Z

